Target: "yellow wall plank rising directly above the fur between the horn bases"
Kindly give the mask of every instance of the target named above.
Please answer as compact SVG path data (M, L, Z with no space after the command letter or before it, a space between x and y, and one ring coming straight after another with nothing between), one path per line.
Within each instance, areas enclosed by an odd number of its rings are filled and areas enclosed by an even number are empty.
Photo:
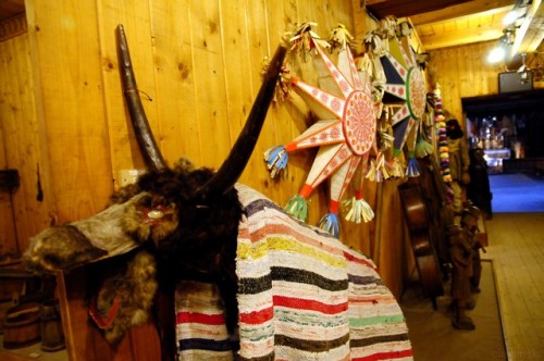
M171 164L181 157L201 162L189 3L152 4L158 116L164 124L161 146Z

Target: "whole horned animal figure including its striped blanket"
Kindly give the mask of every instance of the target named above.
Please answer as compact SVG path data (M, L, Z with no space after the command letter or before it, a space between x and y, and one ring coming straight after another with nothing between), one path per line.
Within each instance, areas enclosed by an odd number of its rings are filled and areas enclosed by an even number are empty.
M294 251L308 249L313 254L322 254L319 263L309 258L304 269L297 262L290 262L288 269L274 267L274 272L280 272L286 282L301 279L301 283L295 285L302 292L305 288L311 288L306 290L306 295L318 295L314 300L309 299L307 302L317 309L305 313L305 318L298 320L300 324L295 326L302 331L305 323L311 321L317 326L325 325L327 334L321 334L319 327L309 327L305 329L305 335L300 334L301 346L318 345L323 360L338 359L336 356L341 353L342 359L349 359L350 348L354 346L359 352L354 357L363 358L372 353L373 360L411 359L411 346L401 311L393 295L381 283L371 261L362 254L349 250L334 238L319 235L318 231L309 229L306 225L298 225L305 232L290 237L287 242L274 244L281 239L277 226L299 224L283 211L273 212L273 220L268 213L262 217L276 227L254 232L254 236L261 235L269 239L270 242L264 248L244 238L250 229L243 221L251 217L248 214L247 199L242 204L236 189L239 187L235 187L235 184L257 142L286 49L280 47L273 57L238 140L223 165L214 172L206 167L195 169L187 160L181 160L173 167L166 166L137 95L121 26L118 27L118 41L125 98L149 171L135 185L115 192L104 211L86 220L45 229L34 237L25 252L28 269L36 272L69 271L89 262L103 262L101 266L116 262L115 271L109 272L101 282L89 310L92 320L112 344L119 343L128 327L147 320L153 307L157 309L154 321L161 338L161 359L183 357L181 348L187 344L176 339L176 329L190 344L191 349L200 350L209 345L203 338L186 339L190 325L195 324L195 316L199 315L197 311L206 309L211 313L201 313L196 326L207 336L214 339L223 337L226 343L233 344L232 351L224 359L237 359L238 349L245 352L243 359L254 358L251 350L264 350L267 359L272 359L277 349L273 349L274 345L270 343L280 347L285 341L297 343L293 336L297 335L297 331L282 334L265 319L259 318L271 316L271 309L267 309L269 313L263 314L260 313L263 304L247 302L248 298L261 294L269 299L272 297L279 300L273 296L272 288L277 291L277 287L282 287L264 275L261 279L263 269L254 261L271 245L287 245ZM256 201L264 204L263 210L280 210L270 200ZM246 224L246 227L240 227L242 224ZM240 247L254 249L244 253ZM331 251L333 254L329 254ZM289 258L288 253L289 250L285 249L274 257L297 259ZM362 267L360 263L363 263ZM323 274L332 275L331 279ZM311 285L305 282L308 275L312 275ZM260 281L264 281L271 289L256 288ZM341 296L336 296L336 289L342 290ZM175 294L183 295L183 298L175 299ZM323 299L327 299L327 302ZM194 312L175 313L180 307L188 303L196 306ZM323 313L320 304L334 312ZM282 310L281 304L272 312L289 318L289 309ZM221 324L221 331L214 334L213 327L206 328L203 325L202 328L199 324L202 320ZM252 332L257 329L254 327L256 322L260 322L259 332L268 333L265 340ZM318 333L312 333L312 329ZM332 333L341 337L331 338ZM313 337L321 337L323 341L312 343ZM327 353L327 350L333 349L334 352ZM190 353L188 357L190 358ZM222 357L207 356L205 359Z

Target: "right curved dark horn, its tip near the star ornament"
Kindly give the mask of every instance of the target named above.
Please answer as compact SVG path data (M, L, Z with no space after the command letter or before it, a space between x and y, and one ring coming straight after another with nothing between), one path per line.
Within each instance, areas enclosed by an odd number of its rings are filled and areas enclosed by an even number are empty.
M236 139L233 149L231 149L228 157L219 171L197 190L197 197L206 198L210 194L225 194L234 187L242 172L244 172L267 117L286 52L287 49L285 47L277 47L244 129L242 129L238 139Z

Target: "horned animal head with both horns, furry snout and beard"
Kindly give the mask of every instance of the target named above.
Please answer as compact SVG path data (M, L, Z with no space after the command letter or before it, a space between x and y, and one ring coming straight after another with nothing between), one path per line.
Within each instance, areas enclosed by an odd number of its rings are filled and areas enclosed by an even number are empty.
M235 294L243 210L234 184L257 142L286 53L277 48L246 125L218 172L195 170L186 160L170 169L150 132L122 25L116 38L125 100L148 173L116 191L102 212L45 229L24 254L36 273L69 271L113 257L129 259L90 302L91 318L112 344L147 320L159 286L172 289L180 279L213 278L223 294ZM224 299L236 301L234 296ZM232 324L236 306L227 309Z

